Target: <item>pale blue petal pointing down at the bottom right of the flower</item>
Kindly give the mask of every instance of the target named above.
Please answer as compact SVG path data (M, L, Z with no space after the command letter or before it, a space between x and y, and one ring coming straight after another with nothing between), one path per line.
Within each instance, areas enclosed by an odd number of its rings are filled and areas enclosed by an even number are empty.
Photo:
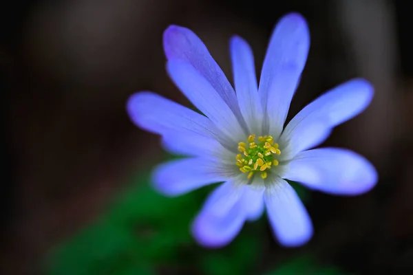
M266 189L265 204L268 218L279 243L288 247L304 245L313 236L308 212L295 190L284 179Z

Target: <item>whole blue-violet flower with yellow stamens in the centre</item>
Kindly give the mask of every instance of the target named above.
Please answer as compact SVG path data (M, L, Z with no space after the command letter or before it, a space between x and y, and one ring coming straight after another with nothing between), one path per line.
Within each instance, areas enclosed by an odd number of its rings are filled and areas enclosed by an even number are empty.
M171 25L163 41L169 76L204 115L149 91L131 96L127 110L140 128L162 135L168 151L187 156L154 170L156 190L176 196L223 182L193 222L201 245L226 245L264 208L280 244L306 243L313 225L285 179L334 195L359 195L377 183L376 170L361 155L313 148L370 104L368 81L354 79L331 89L284 128L310 45L301 15L287 14L277 24L259 86L251 48L238 36L231 39L236 94L191 30Z

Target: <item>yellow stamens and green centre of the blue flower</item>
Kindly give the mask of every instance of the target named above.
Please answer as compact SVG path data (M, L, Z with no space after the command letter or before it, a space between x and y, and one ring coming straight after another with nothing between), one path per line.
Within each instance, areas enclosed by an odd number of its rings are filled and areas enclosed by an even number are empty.
M247 178L251 179L255 173L261 173L261 177L267 177L267 171L271 166L279 164L275 157L281 154L278 144L274 143L271 135L258 137L255 142L255 135L248 135L248 143L238 143L237 166L242 173L248 173Z

